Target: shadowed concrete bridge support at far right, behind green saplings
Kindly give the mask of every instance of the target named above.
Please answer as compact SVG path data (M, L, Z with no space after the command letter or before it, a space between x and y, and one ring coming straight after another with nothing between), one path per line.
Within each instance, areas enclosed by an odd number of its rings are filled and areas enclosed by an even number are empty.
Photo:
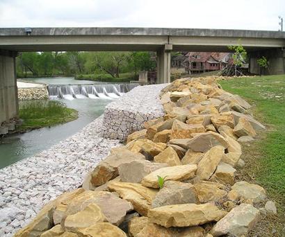
M257 60L262 56L269 62L269 69L259 67ZM249 53L250 73L254 74L285 74L285 49L268 49Z

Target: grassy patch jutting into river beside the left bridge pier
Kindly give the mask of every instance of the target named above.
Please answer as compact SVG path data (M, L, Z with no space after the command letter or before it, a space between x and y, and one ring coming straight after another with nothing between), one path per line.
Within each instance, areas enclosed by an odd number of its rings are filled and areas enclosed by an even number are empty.
M67 108L57 100L29 100L19 102L19 119L22 125L17 132L67 123L78 118L75 109Z

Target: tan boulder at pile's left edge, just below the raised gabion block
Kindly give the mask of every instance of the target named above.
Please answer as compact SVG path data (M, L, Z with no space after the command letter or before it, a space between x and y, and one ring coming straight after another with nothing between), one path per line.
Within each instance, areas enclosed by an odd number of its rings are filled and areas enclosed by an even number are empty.
M155 143L148 139L138 139L134 143L133 148L131 148L131 151L142 152L144 154L147 153L148 155L155 157L167 147L168 146L165 143Z

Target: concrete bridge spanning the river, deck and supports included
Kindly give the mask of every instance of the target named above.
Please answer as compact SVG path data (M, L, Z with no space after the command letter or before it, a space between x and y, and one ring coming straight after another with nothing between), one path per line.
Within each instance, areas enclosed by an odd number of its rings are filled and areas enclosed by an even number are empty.
M159 83L170 82L171 51L229 51L242 44L250 71L257 59L270 62L272 73L285 73L285 33L260 30L189 28L0 28L0 125L17 116L15 58L28 51L156 51Z

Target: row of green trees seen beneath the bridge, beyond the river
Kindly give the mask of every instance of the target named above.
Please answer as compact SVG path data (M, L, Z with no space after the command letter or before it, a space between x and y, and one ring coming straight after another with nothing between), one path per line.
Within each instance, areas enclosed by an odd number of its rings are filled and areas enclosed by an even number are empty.
M155 53L151 52L20 53L16 63L18 77L106 73L119 78L120 73L156 68Z

